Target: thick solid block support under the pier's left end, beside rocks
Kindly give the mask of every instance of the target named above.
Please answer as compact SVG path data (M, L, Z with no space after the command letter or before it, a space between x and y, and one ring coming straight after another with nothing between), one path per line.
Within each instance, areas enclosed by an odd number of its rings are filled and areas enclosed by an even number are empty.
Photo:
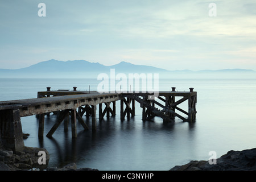
M19 108L1 110L0 126L3 147L13 151L23 151L24 142Z

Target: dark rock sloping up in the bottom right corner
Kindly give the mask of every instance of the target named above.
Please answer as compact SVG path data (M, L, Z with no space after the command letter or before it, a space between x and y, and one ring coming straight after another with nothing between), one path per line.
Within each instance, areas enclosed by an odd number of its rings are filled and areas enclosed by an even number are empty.
M209 164L208 160L192 160L188 164L175 166L170 171L255 171L256 148L229 151L216 160L216 164Z

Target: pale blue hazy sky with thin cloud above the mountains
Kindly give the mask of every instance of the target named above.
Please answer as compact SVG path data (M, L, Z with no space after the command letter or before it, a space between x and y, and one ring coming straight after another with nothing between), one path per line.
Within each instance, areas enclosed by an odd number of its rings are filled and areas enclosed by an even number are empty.
M0 0L0 68L50 59L256 70L256 1Z

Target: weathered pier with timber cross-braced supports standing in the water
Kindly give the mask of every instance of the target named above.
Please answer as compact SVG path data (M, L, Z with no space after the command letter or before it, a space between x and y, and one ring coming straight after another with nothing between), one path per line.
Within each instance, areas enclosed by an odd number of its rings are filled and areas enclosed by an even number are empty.
M153 93L154 94L154 93ZM57 114L57 121L48 132L51 137L60 124L64 121L64 130L67 131L69 116L71 116L72 138L77 137L76 121L88 130L88 126L82 118L83 115L92 118L92 130L96 130L96 107L98 105L98 117L110 117L116 114L116 101L120 100L121 120L135 115L135 101L142 107L143 121L152 117L161 117L163 121L172 121L175 117L183 121L193 121L196 118L196 92L190 88L189 92L176 92L172 88L170 92L159 92L155 100L149 100L149 93L104 93L57 90L47 88L45 92L38 92L38 98L0 102L0 147L12 150L23 150L23 134L20 117L37 115L39 117L38 137L44 133L44 116L49 113ZM176 97L181 97L176 100ZM188 111L178 107L188 100ZM131 106L130 106L131 105ZM105 106L105 108L104 108ZM124 107L125 106L125 107ZM180 111L182 114L178 114ZM185 116L184 116L185 115Z

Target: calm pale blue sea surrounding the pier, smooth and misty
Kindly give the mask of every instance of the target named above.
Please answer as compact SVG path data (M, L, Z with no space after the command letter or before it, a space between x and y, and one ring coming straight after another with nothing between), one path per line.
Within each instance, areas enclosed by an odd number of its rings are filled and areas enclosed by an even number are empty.
M142 109L137 104L135 117L120 121L117 115L97 121L97 131L84 131L77 123L77 139L71 139L71 129L64 133L61 125L53 138L38 139L38 119L23 117L23 133L30 136L24 144L44 147L49 151L49 166L61 167L75 162L77 167L100 170L168 170L190 160L208 160L209 152L217 158L229 150L255 147L256 140L256 80L168 79L159 80L159 90L197 92L197 115L194 123L163 123L155 117L142 121ZM14 79L0 78L0 101L36 98L38 91L73 89L97 90L93 79ZM187 107L187 102L183 104ZM97 113L98 114L98 113ZM91 127L90 118L85 119ZM55 123L55 115L46 117L44 136ZM69 126L71 127L71 126Z

